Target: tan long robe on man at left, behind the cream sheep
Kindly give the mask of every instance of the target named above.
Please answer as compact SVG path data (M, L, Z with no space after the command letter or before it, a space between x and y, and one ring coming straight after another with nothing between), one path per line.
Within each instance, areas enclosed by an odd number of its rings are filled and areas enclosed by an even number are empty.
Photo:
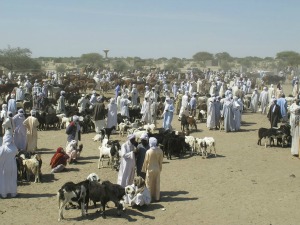
M37 127L40 123L37 118L29 116L24 120L23 124L27 129L26 151L34 152L37 149Z

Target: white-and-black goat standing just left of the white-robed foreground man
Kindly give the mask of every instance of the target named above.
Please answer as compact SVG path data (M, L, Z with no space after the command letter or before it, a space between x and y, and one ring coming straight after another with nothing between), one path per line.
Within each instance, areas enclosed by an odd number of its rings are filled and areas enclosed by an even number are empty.
M117 159L119 158L119 150L121 149L121 145L119 141L115 140L111 142L111 146L108 146L110 143L108 142L108 139L104 139L102 142L102 145L99 146L99 160L98 160L98 169L100 169L100 161L101 161L101 166L103 168L103 157L108 156L109 161L108 164L110 165L111 168L113 168L114 165L114 157ZM116 160L118 161L118 160Z

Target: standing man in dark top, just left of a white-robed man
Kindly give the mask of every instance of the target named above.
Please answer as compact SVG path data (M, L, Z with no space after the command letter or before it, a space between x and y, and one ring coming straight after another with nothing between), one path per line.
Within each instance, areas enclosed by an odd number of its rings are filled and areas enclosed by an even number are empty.
M95 124L95 132L97 134L100 133L100 130L105 126L105 115L107 114L107 111L105 109L105 105L104 105L104 99L99 96L97 98L97 102L94 105L94 114L93 114L93 121Z

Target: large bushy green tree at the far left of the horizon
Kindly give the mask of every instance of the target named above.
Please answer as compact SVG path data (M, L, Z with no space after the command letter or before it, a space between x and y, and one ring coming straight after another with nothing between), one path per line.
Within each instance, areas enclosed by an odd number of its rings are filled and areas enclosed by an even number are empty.
M0 65L9 70L40 70L41 65L31 58L28 48L11 48L0 50Z

